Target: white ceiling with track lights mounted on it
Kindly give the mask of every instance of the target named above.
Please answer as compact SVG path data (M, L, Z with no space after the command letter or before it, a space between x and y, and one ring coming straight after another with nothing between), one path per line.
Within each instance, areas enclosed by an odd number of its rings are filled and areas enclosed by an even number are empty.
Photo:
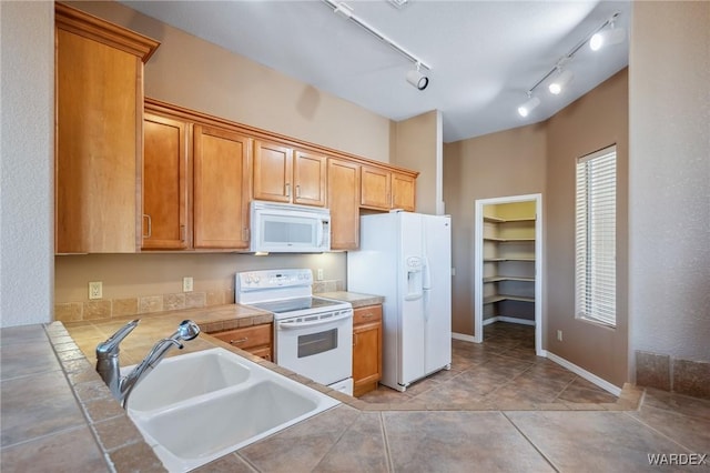
M570 87L551 95L542 83L541 104L523 119L526 91L615 11L628 31L630 2L345 2L432 67L424 91L405 81L409 60L323 1L122 1L392 120L440 110L445 142L545 120L628 64L628 41L597 52L585 46L567 63Z

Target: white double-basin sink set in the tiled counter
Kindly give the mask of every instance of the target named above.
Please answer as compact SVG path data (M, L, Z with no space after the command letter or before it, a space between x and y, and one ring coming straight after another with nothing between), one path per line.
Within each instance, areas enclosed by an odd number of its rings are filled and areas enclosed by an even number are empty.
M128 414L163 465L185 472L337 404L215 348L163 360L129 396Z

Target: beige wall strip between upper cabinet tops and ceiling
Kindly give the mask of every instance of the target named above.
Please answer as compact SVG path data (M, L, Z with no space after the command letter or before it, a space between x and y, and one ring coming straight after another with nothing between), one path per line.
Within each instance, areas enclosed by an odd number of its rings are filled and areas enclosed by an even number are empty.
M69 4L161 42L145 64L146 97L389 161L390 122L384 117L118 2Z

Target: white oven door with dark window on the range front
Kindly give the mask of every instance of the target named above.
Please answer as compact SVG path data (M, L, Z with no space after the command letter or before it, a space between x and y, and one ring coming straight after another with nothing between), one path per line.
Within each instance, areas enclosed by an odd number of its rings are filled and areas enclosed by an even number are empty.
M275 321L276 363L321 384L352 376L353 311Z

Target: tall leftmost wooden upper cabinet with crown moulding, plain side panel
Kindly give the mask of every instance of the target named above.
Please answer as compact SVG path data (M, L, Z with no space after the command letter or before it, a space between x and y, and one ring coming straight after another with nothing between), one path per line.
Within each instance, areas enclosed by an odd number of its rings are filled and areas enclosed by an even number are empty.
M140 245L143 62L159 43L55 3L55 252Z

